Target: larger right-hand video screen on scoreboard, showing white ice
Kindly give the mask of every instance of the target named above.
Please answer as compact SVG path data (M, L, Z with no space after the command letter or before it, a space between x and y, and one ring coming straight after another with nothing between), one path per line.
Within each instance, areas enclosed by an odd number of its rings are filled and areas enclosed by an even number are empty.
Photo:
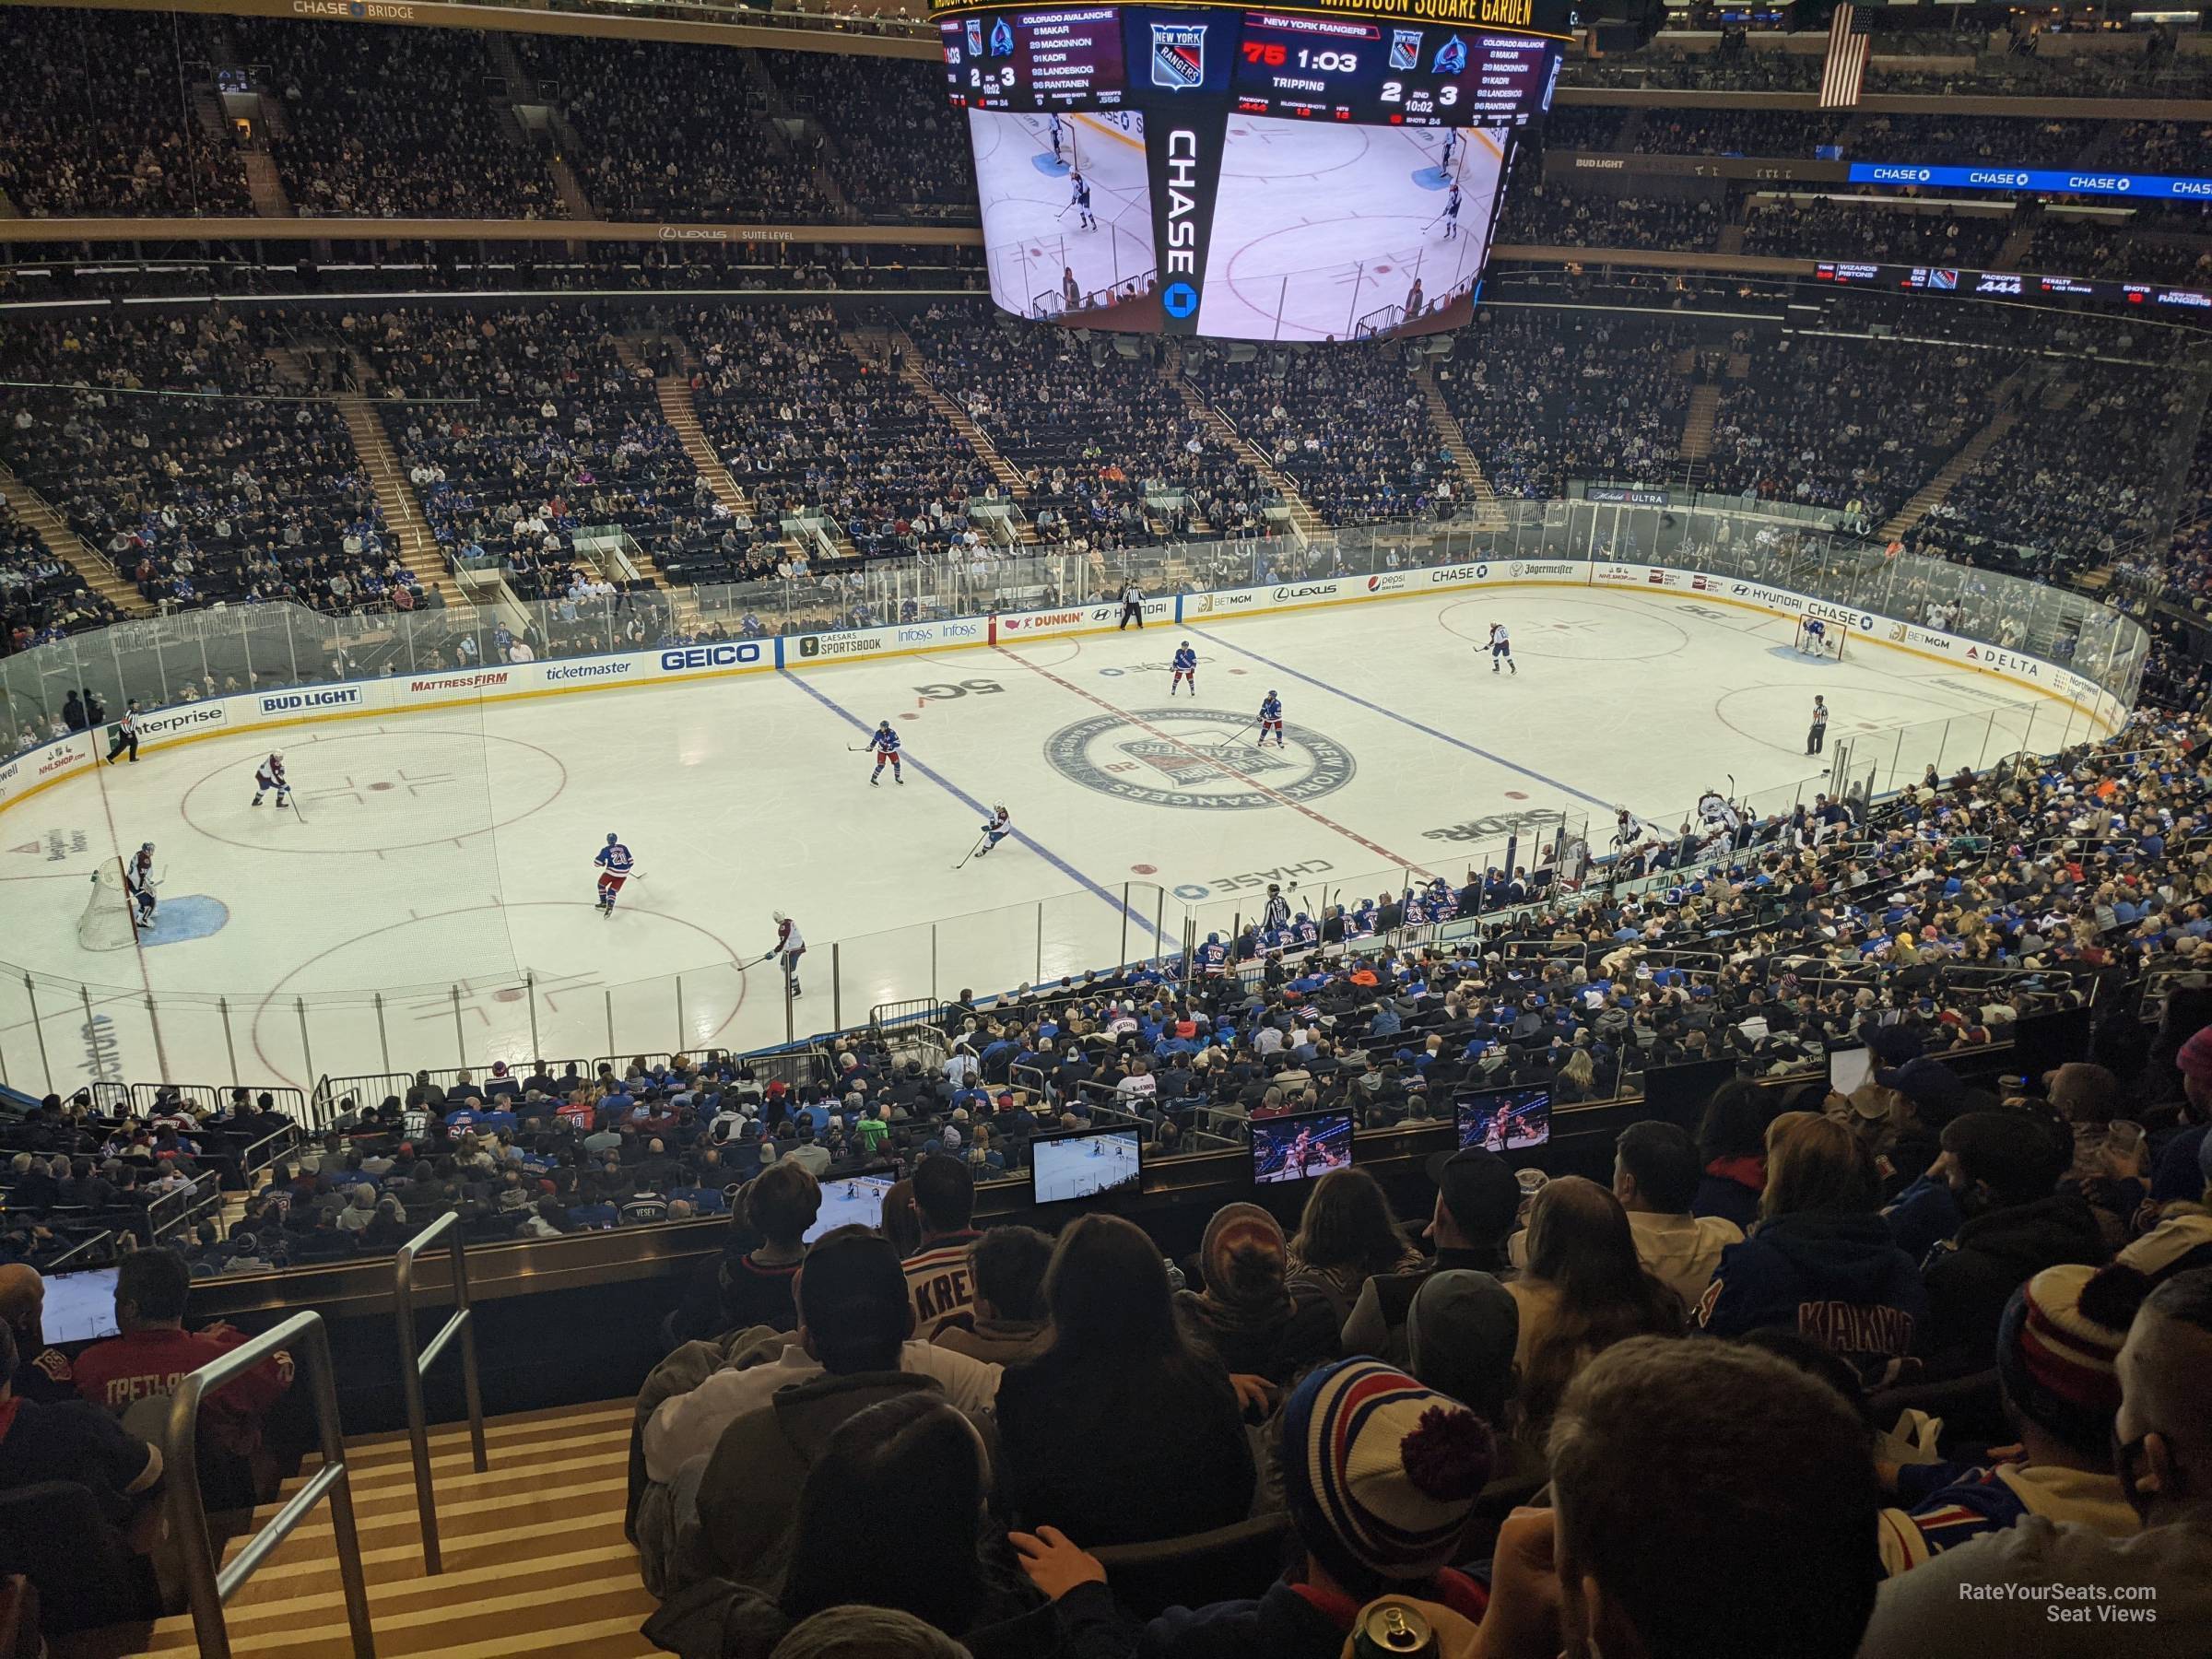
M1349 341L1467 292L1482 274L1502 164L1504 139L1480 128L1232 115L1199 332Z

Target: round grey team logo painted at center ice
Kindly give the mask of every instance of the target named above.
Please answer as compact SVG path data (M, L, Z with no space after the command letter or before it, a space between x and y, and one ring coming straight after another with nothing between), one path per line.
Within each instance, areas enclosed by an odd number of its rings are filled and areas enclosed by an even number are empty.
M1044 741L1044 759L1086 790L1190 812L1314 801L1352 781L1349 750L1321 732L1285 723L1281 750L1254 748L1252 734L1250 714L1139 708L1130 719L1062 726Z

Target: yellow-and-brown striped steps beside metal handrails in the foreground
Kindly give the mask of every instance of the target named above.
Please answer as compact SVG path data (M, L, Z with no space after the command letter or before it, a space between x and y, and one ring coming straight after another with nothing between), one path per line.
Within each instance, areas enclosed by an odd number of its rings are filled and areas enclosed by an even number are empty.
M491 1469L469 1467L467 1425L431 1431L445 1573L422 1575L407 1436L347 1442L376 1652L385 1659L655 1652L637 1635L655 1601L622 1535L630 1402L491 1418ZM303 1478L314 1473L312 1464ZM285 1495L299 1482L285 1486ZM268 1520L274 1504L257 1513ZM239 1542L226 1551L234 1557ZM347 1652L330 1511L319 1509L230 1604L230 1646L257 1659ZM190 1617L161 1619L122 1652L195 1652Z

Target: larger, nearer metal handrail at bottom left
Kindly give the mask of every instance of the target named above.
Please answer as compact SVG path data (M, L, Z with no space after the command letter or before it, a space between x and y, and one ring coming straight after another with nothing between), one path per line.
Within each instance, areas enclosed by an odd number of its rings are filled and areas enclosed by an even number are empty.
M208 1540L208 1506L199 1495L199 1402L241 1371L250 1371L279 1349L292 1349L307 1360L307 1385L314 1389L314 1427L323 1442L323 1467L276 1515L246 1540L230 1566L217 1571L215 1544ZM219 1360L186 1376L168 1402L168 1513L184 1557L184 1588L192 1601L192 1635L201 1659L230 1659L230 1626L223 1608L292 1528L330 1498L330 1528L338 1546L338 1584L345 1590L345 1624L354 1635L354 1659L374 1659L376 1639L369 1632L369 1586L361 1571L361 1537L354 1531L352 1471L345 1467L345 1436L338 1429L338 1380L330 1363L330 1332L323 1316L292 1314L283 1325L241 1343Z

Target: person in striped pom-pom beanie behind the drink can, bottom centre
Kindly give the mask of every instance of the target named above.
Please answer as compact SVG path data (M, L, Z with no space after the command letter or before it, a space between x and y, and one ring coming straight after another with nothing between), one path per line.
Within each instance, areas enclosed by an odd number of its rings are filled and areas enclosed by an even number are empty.
M1303 1559L1256 1601L1168 1608L1128 1628L1106 1568L1055 1528L1013 1533L1029 1577L1060 1604L1071 1659L1336 1659L1380 1595L1469 1624L1489 1601L1451 1568L1491 1475L1489 1425L1380 1360L1307 1374L1276 1422L1276 1460Z

